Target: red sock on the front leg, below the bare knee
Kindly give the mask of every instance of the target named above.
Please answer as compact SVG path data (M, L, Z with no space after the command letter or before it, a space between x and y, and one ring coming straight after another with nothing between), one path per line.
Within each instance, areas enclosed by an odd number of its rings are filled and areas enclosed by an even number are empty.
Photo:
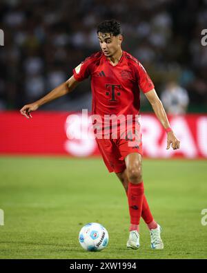
M130 211L130 223L132 225L139 225L141 218L142 203L144 197L144 184L128 183L128 206ZM139 228L139 227L138 227Z

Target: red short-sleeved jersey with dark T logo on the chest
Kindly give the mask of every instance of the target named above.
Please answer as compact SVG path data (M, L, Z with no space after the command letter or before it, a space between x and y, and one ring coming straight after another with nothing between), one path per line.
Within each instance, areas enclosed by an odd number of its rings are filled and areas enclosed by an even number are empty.
M140 62L123 51L121 59L113 66L100 51L86 58L73 70L81 82L90 76L92 89L92 114L138 115L140 91L154 88L152 80Z

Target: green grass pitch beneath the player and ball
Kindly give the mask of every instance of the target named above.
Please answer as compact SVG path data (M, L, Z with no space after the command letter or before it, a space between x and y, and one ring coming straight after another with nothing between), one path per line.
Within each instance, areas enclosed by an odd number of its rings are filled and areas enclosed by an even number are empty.
M207 162L145 160L146 197L163 228L164 250L150 249L141 220L141 247L127 250L128 203L99 158L0 158L0 258L207 258ZM81 249L88 222L108 229L102 252Z

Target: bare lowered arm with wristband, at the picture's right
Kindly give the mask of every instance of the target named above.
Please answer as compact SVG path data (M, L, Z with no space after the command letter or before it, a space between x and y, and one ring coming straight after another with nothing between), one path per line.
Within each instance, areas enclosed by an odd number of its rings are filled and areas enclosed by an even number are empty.
M170 131L170 124L168 121L168 117L166 115L166 111L161 103L161 100L159 100L159 97L155 89L153 88L151 91L144 93L144 95L146 95L148 101L152 105L152 109L154 110L155 115L157 116L158 120L161 122L162 126L164 126L164 129L168 133L167 149L170 148L170 144L173 150L179 149L180 142L177 139L175 133L173 133L173 131Z

